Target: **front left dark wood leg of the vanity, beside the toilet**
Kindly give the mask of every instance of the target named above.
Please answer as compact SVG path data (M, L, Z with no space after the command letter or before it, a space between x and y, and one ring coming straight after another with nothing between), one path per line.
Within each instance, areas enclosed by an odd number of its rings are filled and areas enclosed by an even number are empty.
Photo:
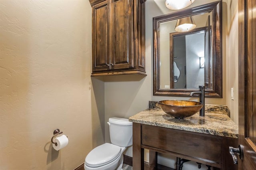
M144 170L144 149L141 148L140 123L132 123L132 169Z

